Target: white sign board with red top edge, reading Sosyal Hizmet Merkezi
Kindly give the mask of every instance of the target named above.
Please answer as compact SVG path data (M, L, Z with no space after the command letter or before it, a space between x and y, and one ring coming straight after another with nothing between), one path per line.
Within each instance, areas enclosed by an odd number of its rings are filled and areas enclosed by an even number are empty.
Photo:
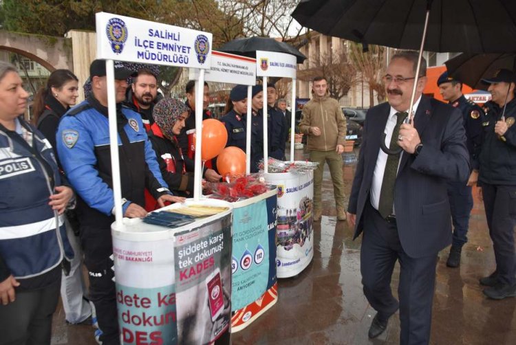
M235 54L213 51L211 67L204 74L207 82L256 85L256 59ZM189 79L199 79L199 71L190 69Z

